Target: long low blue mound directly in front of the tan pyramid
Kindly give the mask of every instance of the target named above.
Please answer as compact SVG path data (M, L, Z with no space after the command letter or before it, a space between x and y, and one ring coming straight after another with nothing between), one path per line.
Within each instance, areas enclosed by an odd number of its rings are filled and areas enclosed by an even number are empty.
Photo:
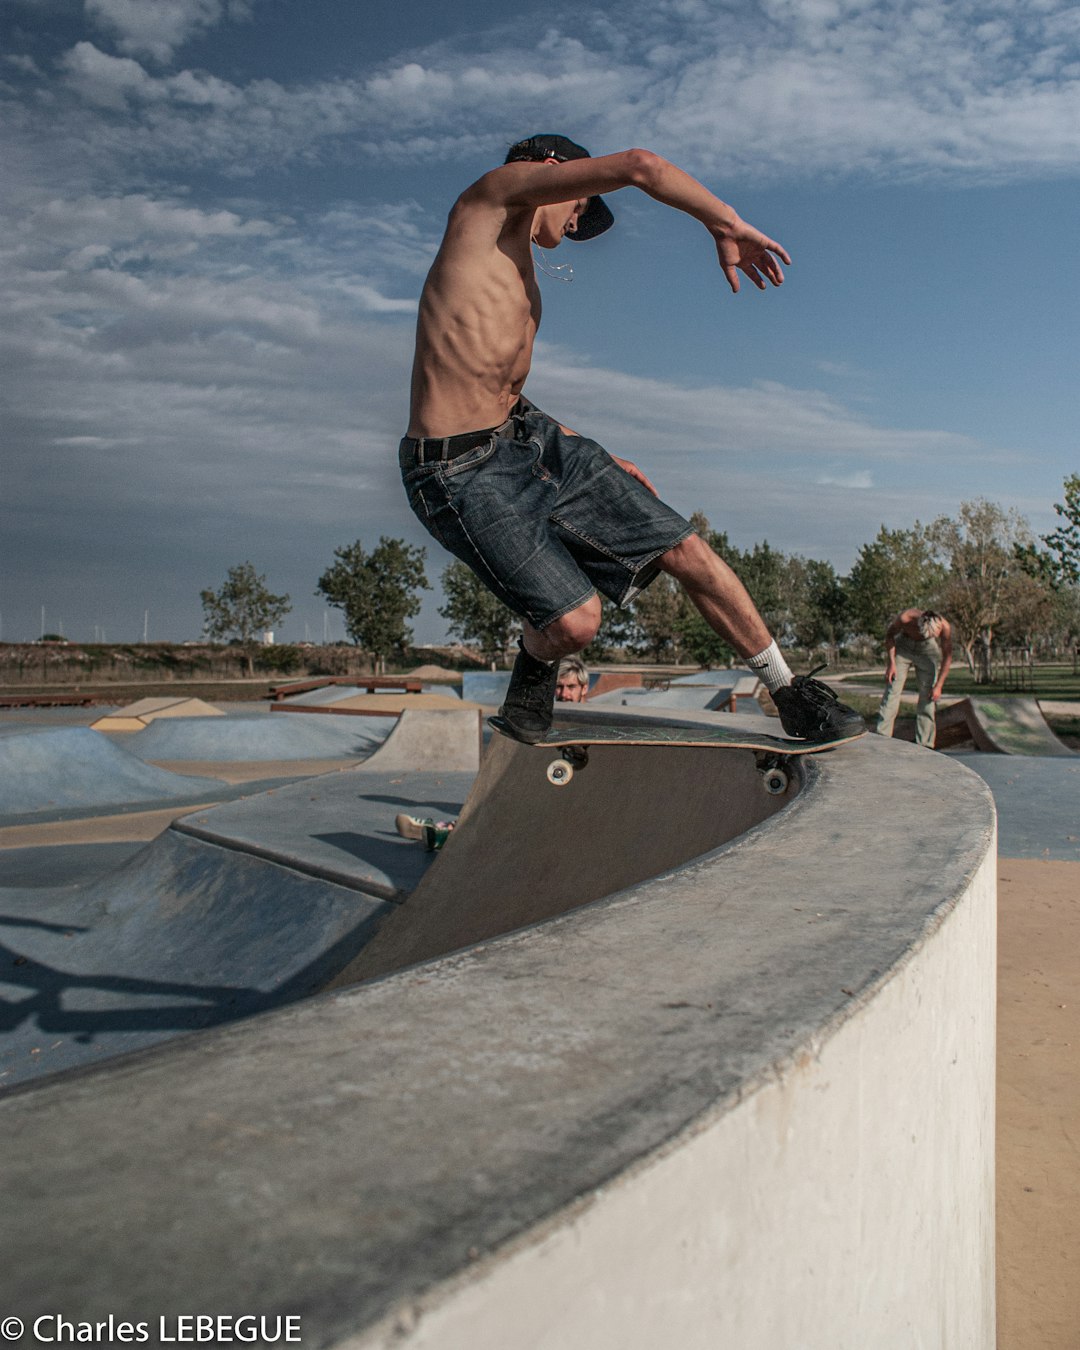
M265 713L158 718L120 744L143 760L366 759L394 728L393 717Z

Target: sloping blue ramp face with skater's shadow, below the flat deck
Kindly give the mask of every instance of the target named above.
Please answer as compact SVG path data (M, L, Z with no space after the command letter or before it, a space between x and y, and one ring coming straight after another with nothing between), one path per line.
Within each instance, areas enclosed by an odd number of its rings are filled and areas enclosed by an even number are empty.
M304 998L386 903L173 829L84 887L0 891L0 1087Z

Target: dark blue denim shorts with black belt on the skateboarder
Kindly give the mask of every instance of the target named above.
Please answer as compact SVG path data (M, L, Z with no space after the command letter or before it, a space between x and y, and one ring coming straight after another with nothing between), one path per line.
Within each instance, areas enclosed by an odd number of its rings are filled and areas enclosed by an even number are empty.
M585 436L521 400L490 439L455 459L398 454L421 524L516 614L547 628L595 591L625 605L657 559L694 533L671 506Z

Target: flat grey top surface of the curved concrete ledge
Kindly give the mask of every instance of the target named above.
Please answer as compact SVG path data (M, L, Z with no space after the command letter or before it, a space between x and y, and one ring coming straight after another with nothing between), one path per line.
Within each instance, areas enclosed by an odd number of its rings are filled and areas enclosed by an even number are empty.
M0 1301L27 1324L281 1311L306 1346L413 1345L620 1179L798 1079L992 867L994 830L976 775L867 737L655 880L15 1089Z

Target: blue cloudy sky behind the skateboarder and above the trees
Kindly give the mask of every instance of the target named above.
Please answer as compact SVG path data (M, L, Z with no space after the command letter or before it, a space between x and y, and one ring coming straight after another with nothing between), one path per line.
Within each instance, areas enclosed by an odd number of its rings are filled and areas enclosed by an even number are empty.
M728 292L636 189L543 277L526 393L730 540L842 574L1080 471L1065 0L0 0L0 640L182 641L251 562L450 558L397 475L458 193L526 135L672 159L790 251Z

